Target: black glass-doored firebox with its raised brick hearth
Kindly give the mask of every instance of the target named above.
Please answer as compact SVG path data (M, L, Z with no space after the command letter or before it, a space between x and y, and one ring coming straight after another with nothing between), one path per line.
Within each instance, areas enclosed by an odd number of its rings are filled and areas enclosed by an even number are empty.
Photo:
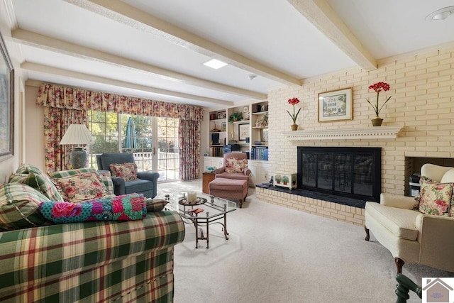
M364 224L366 201L380 201L382 148L297 147L297 189L256 188L272 204Z

